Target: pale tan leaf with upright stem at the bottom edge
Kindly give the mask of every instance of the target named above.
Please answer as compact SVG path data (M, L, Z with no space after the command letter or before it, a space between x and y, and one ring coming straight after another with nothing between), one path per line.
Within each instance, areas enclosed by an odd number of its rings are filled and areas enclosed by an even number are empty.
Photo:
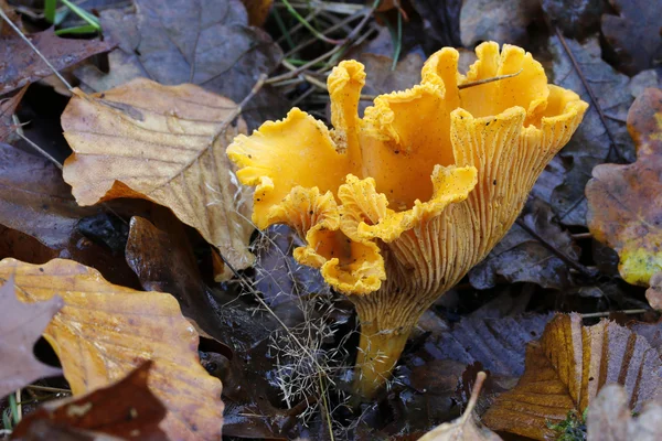
M424 437L419 438L418 441L499 441L501 437L491 430L482 427L476 421L473 415L473 408L478 401L478 395L480 388L485 380L485 373L479 373L473 385L471 392L471 399L467 405L467 410L462 413L461 418L458 418L451 422L445 422L437 427Z

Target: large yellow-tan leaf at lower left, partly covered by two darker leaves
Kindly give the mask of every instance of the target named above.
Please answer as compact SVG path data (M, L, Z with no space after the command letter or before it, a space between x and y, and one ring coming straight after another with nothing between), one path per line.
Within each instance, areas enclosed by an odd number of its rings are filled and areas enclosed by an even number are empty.
M178 440L220 439L221 381L200 365L197 333L172 295L111 284L98 271L63 259L42 266L2 260L0 279L12 276L21 300L62 294L64 308L44 337L74 395L105 387L151 359L148 385L168 409L161 428Z

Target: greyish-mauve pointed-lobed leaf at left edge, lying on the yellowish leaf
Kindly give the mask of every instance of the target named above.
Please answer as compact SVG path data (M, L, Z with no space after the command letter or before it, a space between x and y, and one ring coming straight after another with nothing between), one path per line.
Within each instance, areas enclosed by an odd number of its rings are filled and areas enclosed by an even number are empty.
M32 346L63 304L57 295L24 303L17 299L13 279L4 280L0 287L0 398L35 379L62 374L36 359Z

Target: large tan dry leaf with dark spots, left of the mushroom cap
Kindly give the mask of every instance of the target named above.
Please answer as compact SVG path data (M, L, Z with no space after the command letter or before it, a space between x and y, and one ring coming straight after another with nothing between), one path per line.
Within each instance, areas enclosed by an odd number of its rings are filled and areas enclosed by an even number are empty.
M74 151L64 180L81 205L116 197L164 205L234 268L247 268L254 260L250 207L235 203L242 193L225 155L227 143L246 131L243 120L233 123L236 110L232 100L190 84L137 78L103 94L78 90L62 115Z

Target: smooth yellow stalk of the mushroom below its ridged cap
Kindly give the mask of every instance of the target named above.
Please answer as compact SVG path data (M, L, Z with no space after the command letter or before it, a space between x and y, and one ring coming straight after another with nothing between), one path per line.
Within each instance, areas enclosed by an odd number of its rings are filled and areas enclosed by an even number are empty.
M375 321L361 320L361 341L354 369L356 397L371 399L391 378L410 330L384 330Z

